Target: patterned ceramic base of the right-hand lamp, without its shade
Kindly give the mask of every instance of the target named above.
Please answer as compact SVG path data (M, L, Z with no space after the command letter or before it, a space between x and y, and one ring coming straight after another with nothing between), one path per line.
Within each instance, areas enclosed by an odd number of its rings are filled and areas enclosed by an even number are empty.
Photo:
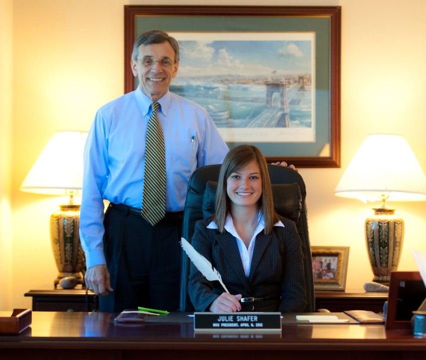
M390 271L396 271L404 240L404 221L394 209L373 209L365 220L365 239L373 271L373 281L389 283Z

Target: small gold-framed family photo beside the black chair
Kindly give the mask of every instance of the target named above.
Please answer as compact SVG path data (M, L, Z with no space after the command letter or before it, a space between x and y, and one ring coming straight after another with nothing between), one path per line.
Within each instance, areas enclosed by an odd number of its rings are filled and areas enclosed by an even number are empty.
M311 246L315 290L344 290L349 247Z

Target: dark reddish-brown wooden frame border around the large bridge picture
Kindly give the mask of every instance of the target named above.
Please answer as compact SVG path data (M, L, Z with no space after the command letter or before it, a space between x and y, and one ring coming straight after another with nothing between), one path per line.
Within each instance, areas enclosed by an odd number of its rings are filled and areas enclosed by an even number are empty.
M340 167L340 54L341 54L341 7L306 6L139 6L124 7L124 92L133 91L133 74L130 59L133 51L135 18L137 16L264 16L264 17L326 17L330 19L330 156L329 157L285 157L285 161L296 167L338 168ZM268 162L282 161L268 157Z

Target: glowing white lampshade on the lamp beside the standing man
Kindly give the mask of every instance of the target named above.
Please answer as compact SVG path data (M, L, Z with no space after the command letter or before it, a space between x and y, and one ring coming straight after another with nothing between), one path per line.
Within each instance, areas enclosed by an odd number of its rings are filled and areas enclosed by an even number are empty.
M69 195L82 188L84 131L58 131L50 139L21 185L22 191Z

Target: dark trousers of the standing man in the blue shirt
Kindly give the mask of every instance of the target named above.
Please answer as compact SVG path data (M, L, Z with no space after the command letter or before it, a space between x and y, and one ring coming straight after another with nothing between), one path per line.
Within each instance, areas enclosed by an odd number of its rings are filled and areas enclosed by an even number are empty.
M179 310L182 213L168 213L151 226L136 209L110 204L104 226L104 253L114 291L100 296L100 310Z

